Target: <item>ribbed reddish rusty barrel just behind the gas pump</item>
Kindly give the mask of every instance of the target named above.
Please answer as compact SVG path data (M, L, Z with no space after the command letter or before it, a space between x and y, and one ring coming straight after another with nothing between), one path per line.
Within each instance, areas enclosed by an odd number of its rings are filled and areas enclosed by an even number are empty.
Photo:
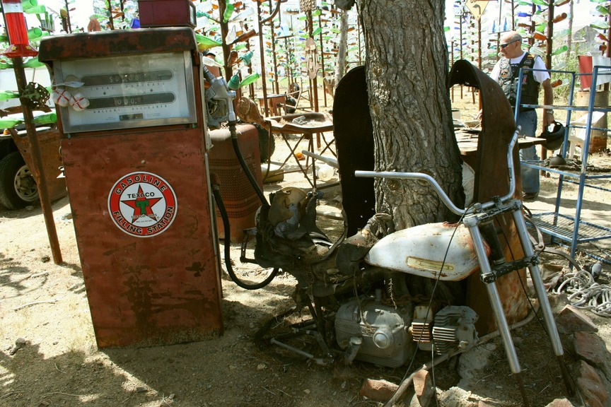
M238 124L238 146L252 175L263 188L261 159L259 153L259 133L252 124ZM210 150L210 172L216 174L221 183L221 198L229 217L231 241L241 242L244 229L255 227L255 213L261 201L248 181L238 157L233 151L229 129L210 131L213 147ZM219 238L225 238L225 229L219 209L216 209L216 227Z

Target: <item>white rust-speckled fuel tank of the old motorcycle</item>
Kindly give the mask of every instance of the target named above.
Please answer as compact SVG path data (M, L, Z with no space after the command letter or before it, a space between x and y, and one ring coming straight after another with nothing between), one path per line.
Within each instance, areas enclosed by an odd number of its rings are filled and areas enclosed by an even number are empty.
M489 254L489 246L485 242L484 246ZM462 280L479 269L469 230L462 223L427 223L399 230L374 244L365 261L446 281Z

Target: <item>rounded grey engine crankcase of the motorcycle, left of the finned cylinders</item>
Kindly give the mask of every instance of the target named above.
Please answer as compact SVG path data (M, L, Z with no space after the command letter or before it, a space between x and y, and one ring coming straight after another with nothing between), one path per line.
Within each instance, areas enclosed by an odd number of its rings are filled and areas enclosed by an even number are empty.
M356 340L360 343L356 359L400 367L415 351L408 331L412 308L410 303L395 309L373 298L349 300L335 316L337 343L346 350Z

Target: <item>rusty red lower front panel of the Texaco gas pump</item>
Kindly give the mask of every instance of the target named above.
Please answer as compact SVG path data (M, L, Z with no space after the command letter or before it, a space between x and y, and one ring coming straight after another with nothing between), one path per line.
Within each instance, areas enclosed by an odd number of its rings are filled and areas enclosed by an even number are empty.
M217 242L203 151L201 129L153 128L62 140L78 253L100 348L168 345L222 333ZM134 218L122 218L115 209L115 196L134 182L157 182L166 204L156 223L141 230L130 227ZM118 205L126 204L136 205Z

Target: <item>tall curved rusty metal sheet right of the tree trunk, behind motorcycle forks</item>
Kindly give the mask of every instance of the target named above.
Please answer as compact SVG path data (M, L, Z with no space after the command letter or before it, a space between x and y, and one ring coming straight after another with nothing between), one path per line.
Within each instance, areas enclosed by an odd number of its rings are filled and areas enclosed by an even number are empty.
M475 170L473 199L477 202L489 201L493 196L502 196L508 191L507 146L513 132L516 131L513 110L501 86L469 61L462 59L453 65L448 88L455 84L479 89L482 102L482 131L479 133L477 158L473 168ZM522 183L517 145L513 151L513 162L516 163L515 196L519 198L522 195ZM504 220L501 225L497 223L497 226L502 228L506 237L506 240L501 238L506 259L521 258L522 247L511 215L506 215ZM518 322L528 314L528 299L523 292L520 278L525 285L525 270L506 274L496 282L508 324ZM479 314L476 324L478 333L482 335L496 330L487 290L484 283L479 280L479 274L472 275L467 284L467 305Z

